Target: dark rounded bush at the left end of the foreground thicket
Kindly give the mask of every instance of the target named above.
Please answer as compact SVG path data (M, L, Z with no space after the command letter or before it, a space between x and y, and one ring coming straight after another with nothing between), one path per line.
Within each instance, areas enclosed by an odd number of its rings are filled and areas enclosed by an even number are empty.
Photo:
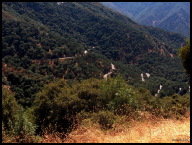
M37 132L67 132L76 121L75 115L81 110L80 99L72 93L72 89L64 81L45 85L37 93L34 106Z

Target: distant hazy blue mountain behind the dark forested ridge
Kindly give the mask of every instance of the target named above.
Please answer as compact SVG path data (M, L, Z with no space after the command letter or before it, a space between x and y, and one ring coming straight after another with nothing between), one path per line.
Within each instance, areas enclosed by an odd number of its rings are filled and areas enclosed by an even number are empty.
M103 2L103 4L140 24L190 37L189 2Z

